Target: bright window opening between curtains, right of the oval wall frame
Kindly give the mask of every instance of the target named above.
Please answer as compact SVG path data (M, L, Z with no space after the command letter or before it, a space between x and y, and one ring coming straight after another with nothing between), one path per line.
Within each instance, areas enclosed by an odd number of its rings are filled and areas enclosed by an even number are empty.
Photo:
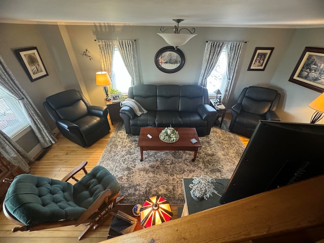
M208 93L214 94L214 91L220 89L222 84L223 75L226 72L226 47L223 49L218 62L212 71L211 75L207 78Z

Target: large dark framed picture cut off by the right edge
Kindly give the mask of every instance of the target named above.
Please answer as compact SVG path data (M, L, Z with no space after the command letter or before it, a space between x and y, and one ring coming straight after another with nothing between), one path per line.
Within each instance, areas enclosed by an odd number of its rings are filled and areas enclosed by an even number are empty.
M324 48L305 47L289 81L323 93Z

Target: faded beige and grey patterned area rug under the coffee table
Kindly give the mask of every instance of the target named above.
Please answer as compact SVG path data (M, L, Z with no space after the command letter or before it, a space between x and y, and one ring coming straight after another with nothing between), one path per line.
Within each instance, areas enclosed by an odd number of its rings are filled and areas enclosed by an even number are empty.
M98 161L116 177L120 195L126 197L124 204L142 204L160 195L172 205L183 205L182 178L230 178L245 149L237 135L228 131L226 121L222 128L214 126L210 135L199 137L202 147L195 161L191 151L144 151L140 161L138 137L127 135L120 122Z

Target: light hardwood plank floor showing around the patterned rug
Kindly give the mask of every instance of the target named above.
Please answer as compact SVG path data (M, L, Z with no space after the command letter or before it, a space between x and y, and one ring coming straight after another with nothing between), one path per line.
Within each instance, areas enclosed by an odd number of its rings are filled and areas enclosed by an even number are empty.
M227 120L228 123L230 123L230 118L230 114L226 114L225 120ZM88 161L87 170L90 171L94 166L97 165L98 160L116 126L116 123L111 125L110 119L109 124L111 128L110 133L89 148L82 148L59 134L57 136L58 142L51 146L51 149L49 149L44 157L41 160L30 164L30 174L61 180L70 170L79 165L83 160ZM248 138L240 136L239 138L245 145L248 144ZM82 173L80 173L78 178L81 178L82 176ZM174 219L178 218L177 208L177 206L172 206ZM95 231L89 232L82 242L100 242L105 240L107 238L110 221L111 219L109 218L104 225L100 226ZM86 227L84 225L79 225L77 227L66 226L41 231L12 233L11 229L15 226L15 224L11 223L11 221L4 216L3 212L0 213L0 242L78 242L77 237Z

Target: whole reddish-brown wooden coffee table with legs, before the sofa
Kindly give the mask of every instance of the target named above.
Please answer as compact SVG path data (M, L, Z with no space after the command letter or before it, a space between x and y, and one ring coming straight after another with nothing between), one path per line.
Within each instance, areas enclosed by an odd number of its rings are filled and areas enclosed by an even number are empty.
M193 151L192 161L196 159L198 148L201 147L197 132L195 128L175 128L179 133L179 140L175 143L166 143L159 139L158 135L164 128L141 128L140 136L137 146L141 150L141 159L143 161L143 151L147 150L161 150L161 151ZM149 138L147 135L151 135ZM196 143L192 144L190 139L195 138Z

